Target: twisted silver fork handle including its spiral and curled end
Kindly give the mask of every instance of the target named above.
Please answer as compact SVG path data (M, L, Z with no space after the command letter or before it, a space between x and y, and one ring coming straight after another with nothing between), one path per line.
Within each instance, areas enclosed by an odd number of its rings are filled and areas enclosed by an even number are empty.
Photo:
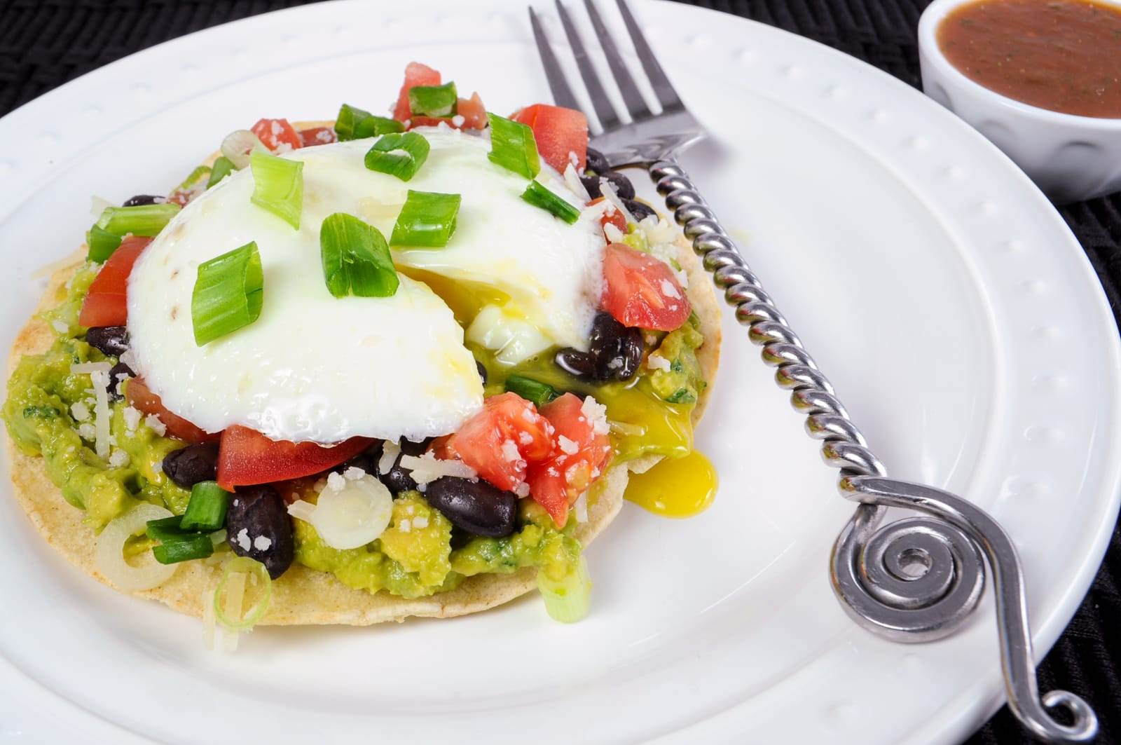
M1040 703L1028 627L1023 571L1016 546L988 514L955 495L887 478L882 462L850 419L828 378L775 306L685 171L673 159L647 164L666 206L682 226L716 287L748 326L776 383L806 415L809 436L841 469L841 495L858 503L830 558L830 579L842 608L861 626L896 642L926 642L954 632L984 591L988 559L997 594L1001 669L1009 705L1036 737L1084 743L1097 717L1078 696L1048 692ZM880 526L888 506L923 513ZM919 571L916 572L916 565ZM916 576L918 574L918 576ZM1066 708L1072 725L1044 708Z

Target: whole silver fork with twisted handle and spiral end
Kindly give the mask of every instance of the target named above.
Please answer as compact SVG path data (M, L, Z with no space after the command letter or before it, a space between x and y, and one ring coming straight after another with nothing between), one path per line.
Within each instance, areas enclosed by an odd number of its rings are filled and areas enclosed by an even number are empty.
M997 627L1009 706L1032 735L1047 742L1088 742L1097 717L1078 696L1054 690L1040 705L1028 627L1023 572L1011 539L986 513L941 489L887 478L887 471L850 419L828 378L748 267L712 208L677 163L677 155L704 137L685 108L624 0L615 0L660 111L647 105L593 0L584 0L592 28L626 107L617 110L560 0L557 16L601 131L591 146L613 167L641 166L682 226L716 287L777 368L779 387L790 390L806 415L808 434L822 441L825 462L841 469L841 495L859 504L833 546L830 580L842 608L863 627L897 642L925 642L953 633L984 591L985 563L993 572ZM529 8L537 50L557 105L580 109L540 19ZM624 114L620 116L620 114ZM880 525L887 507L921 513ZM982 558L983 557L983 558ZM1047 708L1065 708L1071 725Z

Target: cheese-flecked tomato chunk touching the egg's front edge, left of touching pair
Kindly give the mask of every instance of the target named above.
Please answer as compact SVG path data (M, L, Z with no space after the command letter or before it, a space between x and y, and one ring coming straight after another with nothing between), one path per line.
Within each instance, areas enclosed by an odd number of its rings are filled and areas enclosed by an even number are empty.
M553 451L553 425L537 408L515 393L491 396L439 448L454 456L500 489L515 491L525 484L530 462Z

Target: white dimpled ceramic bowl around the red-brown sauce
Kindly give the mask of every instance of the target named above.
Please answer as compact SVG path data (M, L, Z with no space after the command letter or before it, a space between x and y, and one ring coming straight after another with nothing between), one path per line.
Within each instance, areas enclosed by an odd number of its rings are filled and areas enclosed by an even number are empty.
M923 90L1012 158L1056 202L1121 190L1121 119L1076 117L1001 95L975 83L943 55L942 20L972 0L934 0L918 22ZM1106 0L1121 4L1121 0Z

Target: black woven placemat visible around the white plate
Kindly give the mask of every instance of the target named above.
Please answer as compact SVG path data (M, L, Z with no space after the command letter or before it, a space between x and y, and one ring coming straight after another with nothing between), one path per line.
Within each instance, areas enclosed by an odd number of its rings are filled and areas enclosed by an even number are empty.
M0 114L145 47L207 26L296 4L304 3L0 0ZM926 0L693 0L689 4L744 16L807 36L919 86L915 29ZM1059 212L1086 249L1117 316L1121 307L1121 195L1071 204ZM1121 733L1119 572L1121 533L1115 531L1090 594L1039 668L1043 690L1065 688L1086 698L1096 709L1102 724L1100 743L1113 743L1114 734ZM1027 739L1004 707L969 742Z

